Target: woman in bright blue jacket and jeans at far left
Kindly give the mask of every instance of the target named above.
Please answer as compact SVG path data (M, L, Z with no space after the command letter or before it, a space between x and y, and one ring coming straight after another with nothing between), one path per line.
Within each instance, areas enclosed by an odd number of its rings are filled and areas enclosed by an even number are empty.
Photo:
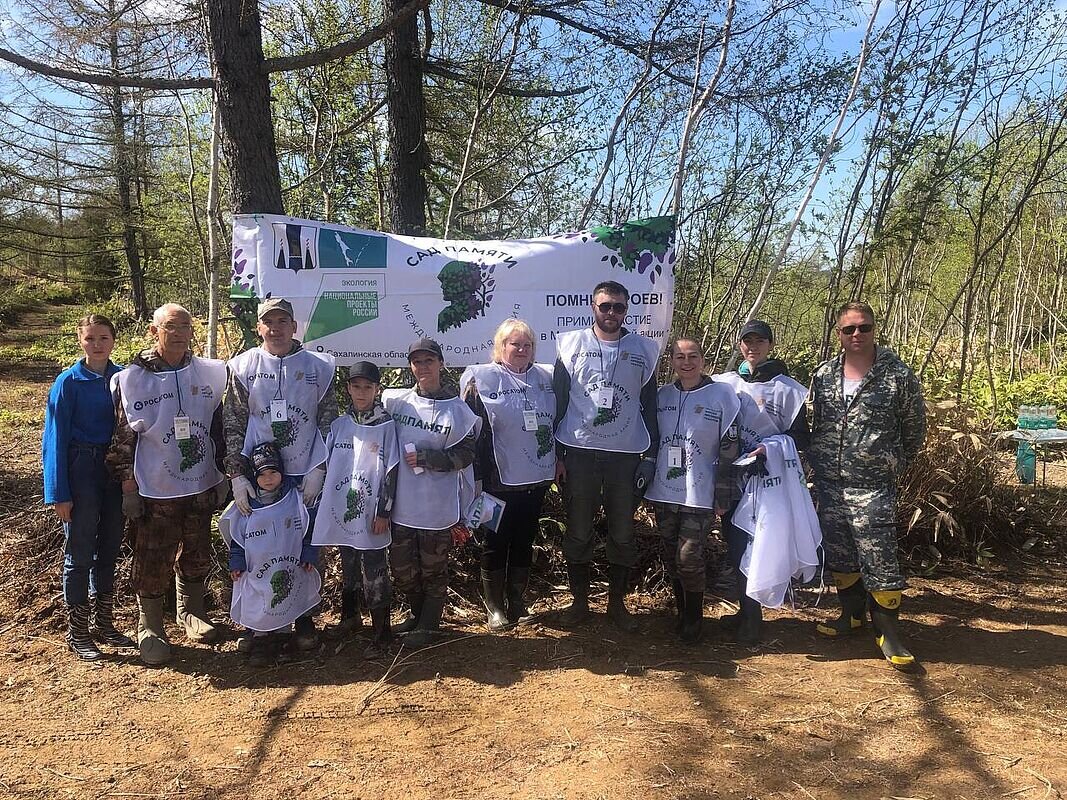
M93 640L114 647L133 642L115 629L115 561L123 537L122 489L103 464L115 427L110 382L115 326L91 314L78 322L85 357L60 373L48 393L41 443L45 502L63 522L63 599L67 644L86 661L100 658ZM92 629L91 620L92 617Z

